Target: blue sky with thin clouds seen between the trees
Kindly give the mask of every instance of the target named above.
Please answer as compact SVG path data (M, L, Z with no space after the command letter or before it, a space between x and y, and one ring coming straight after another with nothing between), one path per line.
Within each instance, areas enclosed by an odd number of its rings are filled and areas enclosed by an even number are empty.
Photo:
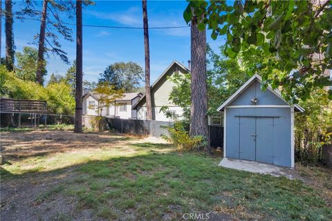
M21 8L22 1L14 1L13 10ZM42 2L38 2L39 10ZM187 6L186 1L148 1L147 10L149 27L160 26L185 26L183 10ZM3 5L4 8L4 5ZM50 15L50 18L51 15ZM54 20L54 19L53 19ZM69 23L75 23L64 19ZM4 23L4 21L3 21ZM95 6L84 9L83 23L101 26L126 26L142 27L142 2L141 1L95 1ZM15 20L15 46L21 51L33 41L33 36L39 32L39 21L24 22ZM75 40L75 26L73 39ZM69 42L61 39L62 49L68 53L70 61L75 59L75 41ZM5 36L2 30L2 51L4 56ZM178 28L167 30L149 30L150 41L150 66L151 82L154 82L163 70L173 61L178 60L187 65L190 59L190 28ZM210 38L208 42L212 49L217 50L224 39L216 41ZM37 47L37 46L35 46ZM133 61L144 68L144 41L142 30L112 29L112 28L83 28L83 72L84 79L97 81L99 74L109 65L116 61ZM64 75L68 65L53 55L47 60L48 77L50 73Z

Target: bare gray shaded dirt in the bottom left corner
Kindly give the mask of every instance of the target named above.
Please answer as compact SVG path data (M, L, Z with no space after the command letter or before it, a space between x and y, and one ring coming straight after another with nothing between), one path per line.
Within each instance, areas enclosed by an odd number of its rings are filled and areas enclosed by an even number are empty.
M75 203L70 198L57 198L39 203L38 195L73 177L73 168L60 175L36 175L1 183L2 220L52 220L59 214L70 214ZM56 209L55 209L56 208Z

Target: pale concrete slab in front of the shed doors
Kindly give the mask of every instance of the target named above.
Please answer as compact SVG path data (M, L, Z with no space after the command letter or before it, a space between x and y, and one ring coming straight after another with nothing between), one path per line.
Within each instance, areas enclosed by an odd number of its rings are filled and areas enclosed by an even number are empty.
M252 173L270 174L275 177L284 176L288 179L301 179L295 169L275 166L270 164L262 164L259 162L247 161L247 160L235 160L230 158L223 158L219 163L219 166L223 166L230 169L237 169L240 171L248 171Z

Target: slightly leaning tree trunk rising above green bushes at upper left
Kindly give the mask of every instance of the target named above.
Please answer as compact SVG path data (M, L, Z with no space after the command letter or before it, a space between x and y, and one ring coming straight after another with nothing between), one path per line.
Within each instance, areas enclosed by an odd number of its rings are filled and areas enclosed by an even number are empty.
M39 32L36 82L40 85L43 84L43 73L45 70L45 60L44 60L45 45L44 45L44 43L45 43L47 3L48 3L48 0L43 1L42 22L40 23L40 32Z

